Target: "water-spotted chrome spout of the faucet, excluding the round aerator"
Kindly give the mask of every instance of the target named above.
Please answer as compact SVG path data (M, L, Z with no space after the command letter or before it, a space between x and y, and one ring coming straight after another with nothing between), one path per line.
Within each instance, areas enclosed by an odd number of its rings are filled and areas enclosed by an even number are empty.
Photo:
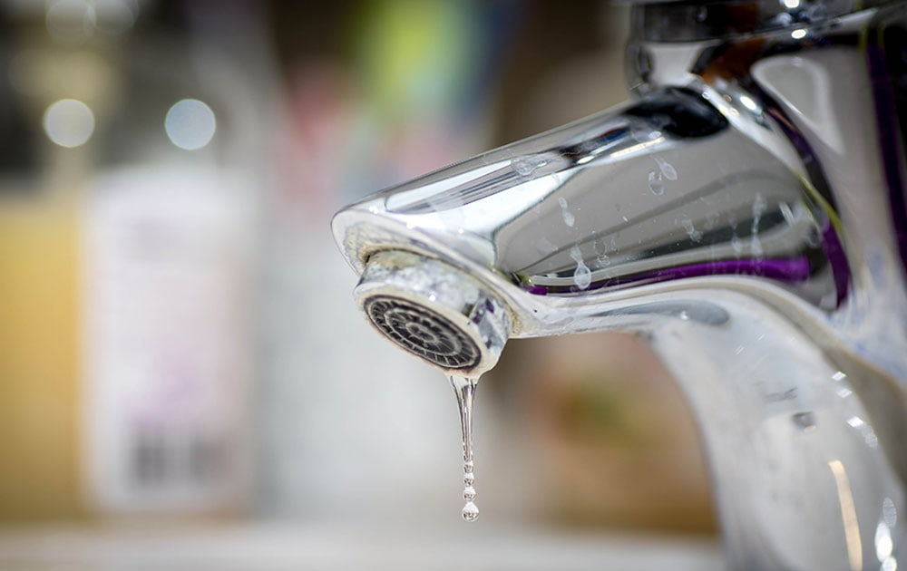
M680 279L756 276L834 308L849 271L834 211L780 130L741 131L708 95L649 92L385 190L336 215L337 242L360 273L404 250L478 276L514 336Z

